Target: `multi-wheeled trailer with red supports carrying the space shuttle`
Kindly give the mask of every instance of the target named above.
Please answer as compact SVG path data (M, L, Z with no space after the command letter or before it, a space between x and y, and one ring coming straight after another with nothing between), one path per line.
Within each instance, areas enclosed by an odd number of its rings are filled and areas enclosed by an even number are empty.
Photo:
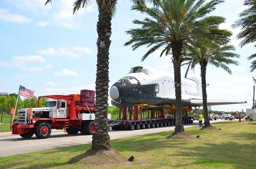
M140 107L140 110L139 110ZM147 113L142 115L142 108L145 108ZM170 110L170 111L167 111ZM192 113L188 115L192 107L182 107L182 122L183 124L193 123ZM139 118L140 114L140 118ZM129 116L129 119L127 118ZM132 116L134 117L132 119ZM144 116L144 118L143 118ZM146 117L145 117L146 116ZM120 108L119 118L109 121L113 130L134 130L155 127L165 127L175 125L176 109L175 107L159 107L147 105L134 105L134 109L124 107Z

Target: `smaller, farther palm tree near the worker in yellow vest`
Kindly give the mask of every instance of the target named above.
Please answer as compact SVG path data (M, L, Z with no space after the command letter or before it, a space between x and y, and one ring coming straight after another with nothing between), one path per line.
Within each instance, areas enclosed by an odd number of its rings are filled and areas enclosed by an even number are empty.
M221 30L224 38L231 36L231 33L227 30ZM228 68L228 64L238 65L237 61L233 58L239 58L240 56L231 51L235 51L233 45L222 45L218 43L210 43L207 45L202 45L202 43L194 43L192 52L189 52L184 60L191 63L191 69L197 64L200 65L201 69L201 79L202 79L202 96L203 96L203 110L204 110L204 127L210 126L210 120L208 118L208 107L207 107L207 94L206 94L206 68L208 64L211 64L217 68L222 68L226 70L229 74L232 74L231 70Z

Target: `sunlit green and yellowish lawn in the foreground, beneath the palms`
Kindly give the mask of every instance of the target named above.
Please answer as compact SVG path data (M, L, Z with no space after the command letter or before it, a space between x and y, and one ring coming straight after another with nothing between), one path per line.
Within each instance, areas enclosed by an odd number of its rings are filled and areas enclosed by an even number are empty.
M195 140L166 139L172 131L111 140L122 155L135 156L138 165L97 166L96 168L256 168L256 123L223 121L212 124L221 131L186 128ZM124 131L125 132L125 131ZM28 145L29 146L29 145ZM67 164L91 144L56 148L0 158L0 168L92 168Z

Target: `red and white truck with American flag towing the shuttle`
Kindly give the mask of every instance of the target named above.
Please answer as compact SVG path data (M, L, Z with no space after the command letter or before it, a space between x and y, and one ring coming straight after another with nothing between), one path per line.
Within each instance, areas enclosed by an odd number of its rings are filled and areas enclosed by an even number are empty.
M45 107L39 107L41 98L49 98ZM18 110L17 119L11 125L12 134L30 138L34 134L39 139L48 138L52 129L63 129L68 134L79 131L92 135L95 131L95 92L81 90L81 95L49 95L38 97L38 107ZM108 114L111 119L111 114Z

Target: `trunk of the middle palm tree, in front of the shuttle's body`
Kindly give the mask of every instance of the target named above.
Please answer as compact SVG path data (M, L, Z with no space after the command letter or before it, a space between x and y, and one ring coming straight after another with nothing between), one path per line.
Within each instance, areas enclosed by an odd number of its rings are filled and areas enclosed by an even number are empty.
M174 86L175 86L175 98L176 98L176 126L175 132L185 131L182 124L182 114L181 114L181 50L182 42L176 42L172 44L172 62L174 69Z

